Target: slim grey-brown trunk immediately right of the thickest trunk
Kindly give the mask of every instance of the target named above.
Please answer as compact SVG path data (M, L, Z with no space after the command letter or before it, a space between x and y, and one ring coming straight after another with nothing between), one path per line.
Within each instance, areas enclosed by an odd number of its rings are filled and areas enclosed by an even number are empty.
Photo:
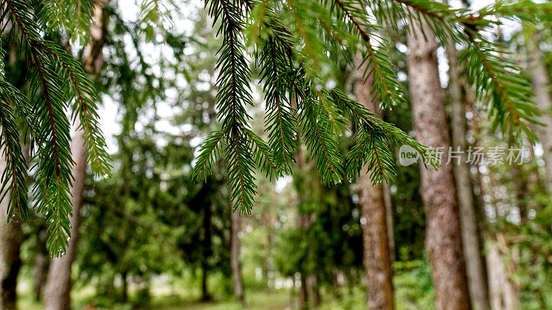
M479 229L473 201L473 184L471 183L470 167L468 163L466 141L466 110L462 102L462 86L458 73L458 54L455 42L449 37L446 53L449 59L449 90L451 92L451 132L453 150L460 150L460 163L451 162L454 167L454 176L460 206L460 225L462 227L462 244L464 245L464 259L468 273L468 284L471 301L475 309L488 310L489 287L487 286L485 269L481 255Z

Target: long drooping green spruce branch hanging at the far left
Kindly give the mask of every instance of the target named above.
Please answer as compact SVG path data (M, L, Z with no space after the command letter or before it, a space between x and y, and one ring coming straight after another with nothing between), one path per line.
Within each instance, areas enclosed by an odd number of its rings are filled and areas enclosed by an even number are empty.
M37 210L48 217L48 249L50 254L58 256L63 254L68 244L69 218L72 215L69 187L74 162L66 111L73 102L74 117L76 114L81 116L80 126L85 132L91 167L97 174L106 174L109 170L108 155L96 112L99 99L79 62L42 38L40 33L43 30L28 4L22 0L6 0L5 3L0 13L6 17L4 22L12 21L12 31L19 33L21 50L30 64L32 108L26 105L24 97L15 107L26 120L26 127L36 144L38 161L33 193L37 196ZM86 22L87 29L89 23Z

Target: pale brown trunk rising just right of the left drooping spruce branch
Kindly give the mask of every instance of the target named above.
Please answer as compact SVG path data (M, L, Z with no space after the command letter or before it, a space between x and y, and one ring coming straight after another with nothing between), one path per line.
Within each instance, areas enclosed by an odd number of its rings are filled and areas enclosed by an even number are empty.
M105 43L106 24L104 23L104 6L109 0L100 0L92 12L92 24L90 25L90 43L86 46L84 54L86 55L85 70L89 74L97 74L103 65L103 54L101 52ZM77 123L78 125L78 123ZM71 291L71 267L77 254L77 240L79 226L81 223L81 207L83 203L83 190L86 180L86 145L83 139L82 130L75 132L75 137L71 141L71 154L75 165L72 167L73 181L71 191L72 217L70 218L69 245L66 254L61 257L53 258L50 261L48 270L48 280L46 280L45 308L47 310L70 309L70 291Z

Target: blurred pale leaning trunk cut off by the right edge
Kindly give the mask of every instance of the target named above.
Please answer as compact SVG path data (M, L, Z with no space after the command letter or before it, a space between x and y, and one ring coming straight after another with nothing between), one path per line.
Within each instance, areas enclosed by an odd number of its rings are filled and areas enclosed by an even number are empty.
M539 121L544 126L536 126L535 132L538 134L542 149L543 158L546 165L546 178L548 183L552 183L552 99L550 95L550 79L548 70L542 59L542 50L539 48L540 35L538 30L534 30L531 36L526 37L527 42L527 61L531 72L531 81L533 82L533 92L535 92L535 103L542 112Z

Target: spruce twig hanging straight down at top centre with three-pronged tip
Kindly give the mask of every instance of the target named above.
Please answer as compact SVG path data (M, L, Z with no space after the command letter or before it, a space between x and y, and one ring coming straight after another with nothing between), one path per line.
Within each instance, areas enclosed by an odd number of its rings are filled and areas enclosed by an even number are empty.
M226 141L224 152L228 167L226 175L230 187L230 196L235 201L234 209L242 214L250 214L253 207L253 196L257 194L257 185L253 169L257 165L267 175L276 175L276 166L271 154L262 139L248 128L250 116L247 105L253 105L250 94L250 70L244 55L243 33L244 10L249 10L248 3L232 0L206 1L214 23L220 22L219 34L223 34L223 44L219 49L217 70L217 117L222 121L222 130L217 136L208 138L207 147L201 148L200 165L195 166L195 177L206 176L213 163L213 149L219 141ZM253 157L251 156L253 154ZM207 169L206 169L207 168Z

